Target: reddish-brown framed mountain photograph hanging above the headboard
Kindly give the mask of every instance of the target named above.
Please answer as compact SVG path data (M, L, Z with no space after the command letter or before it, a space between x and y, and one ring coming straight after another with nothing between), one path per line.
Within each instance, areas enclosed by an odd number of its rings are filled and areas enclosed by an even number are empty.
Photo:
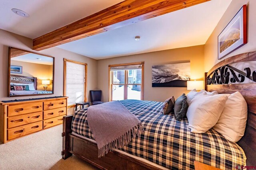
M218 60L247 43L247 10L244 5L218 36Z

